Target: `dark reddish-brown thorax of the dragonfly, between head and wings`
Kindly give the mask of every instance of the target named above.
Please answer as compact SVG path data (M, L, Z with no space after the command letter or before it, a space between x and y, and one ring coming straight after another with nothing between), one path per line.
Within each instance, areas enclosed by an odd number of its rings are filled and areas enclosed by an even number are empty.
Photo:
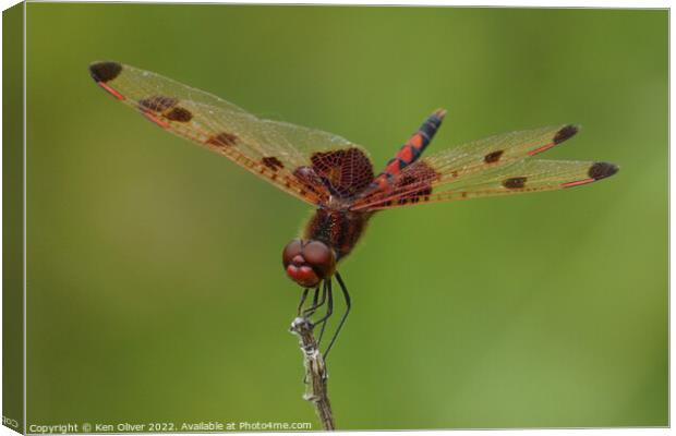
M372 213L317 209L305 227L305 240L322 241L336 251L337 259L350 254L366 229Z

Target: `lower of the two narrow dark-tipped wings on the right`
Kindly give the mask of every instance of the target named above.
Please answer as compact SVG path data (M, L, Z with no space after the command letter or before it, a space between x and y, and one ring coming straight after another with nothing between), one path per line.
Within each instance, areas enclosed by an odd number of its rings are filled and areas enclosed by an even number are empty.
M608 162L529 159L459 180L428 192L414 192L369 207L378 210L419 203L448 202L563 190L605 179L618 168Z

